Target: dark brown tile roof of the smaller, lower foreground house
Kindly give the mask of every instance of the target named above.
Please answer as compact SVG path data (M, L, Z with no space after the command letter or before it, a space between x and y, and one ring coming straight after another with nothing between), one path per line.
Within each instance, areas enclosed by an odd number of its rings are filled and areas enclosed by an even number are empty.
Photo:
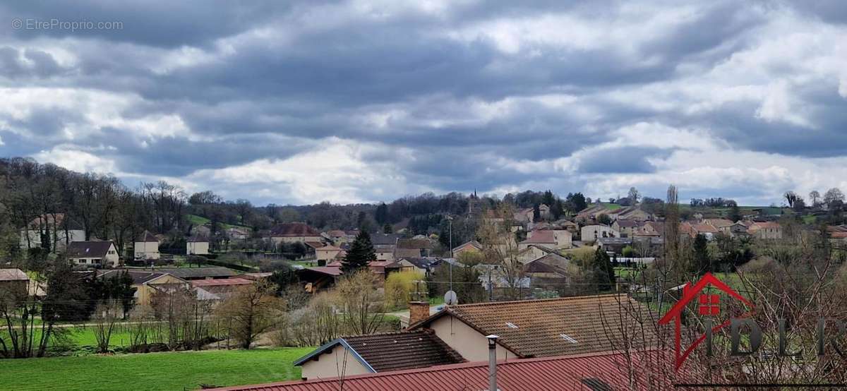
M342 340L376 372L425 368L465 361L455 350L436 337L435 333L416 330L335 339L296 361L295 365L302 365L314 355L319 356L323 351L335 348L336 345L342 344Z

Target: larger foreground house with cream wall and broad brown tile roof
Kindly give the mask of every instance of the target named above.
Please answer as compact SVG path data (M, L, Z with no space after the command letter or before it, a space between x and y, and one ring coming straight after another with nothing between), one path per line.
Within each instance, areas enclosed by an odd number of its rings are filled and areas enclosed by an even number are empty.
M579 355L620 349L624 336L617 328L651 319L646 306L626 295L591 295L446 306L423 320L410 319L408 329L428 328L466 360L485 361L489 334L500 336L496 354L507 360ZM609 324L616 329L606 330ZM628 342L656 342L655 328L643 332Z

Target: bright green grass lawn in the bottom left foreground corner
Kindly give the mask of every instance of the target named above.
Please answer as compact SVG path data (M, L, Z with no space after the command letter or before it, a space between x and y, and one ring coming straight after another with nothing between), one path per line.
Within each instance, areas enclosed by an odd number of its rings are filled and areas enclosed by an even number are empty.
M300 378L291 363L313 348L208 350L0 360L0 389L183 390Z

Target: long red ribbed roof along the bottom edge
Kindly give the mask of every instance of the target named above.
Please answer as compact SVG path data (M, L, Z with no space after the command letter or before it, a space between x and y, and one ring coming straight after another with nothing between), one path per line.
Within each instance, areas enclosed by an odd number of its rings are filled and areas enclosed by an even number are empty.
M632 354L605 352L591 355L571 355L500 361L497 364L497 387L508 391L537 390L597 390L597 389L666 389L672 388L673 358L664 360L657 352ZM638 368L632 371L630 368ZM662 377L658 373L667 374ZM371 391L391 389L403 391L484 390L488 389L488 362L470 362L432 366L396 372L379 372L344 377L344 389ZM632 382L632 383L630 383ZM215 388L220 391L335 391L340 379L257 384ZM593 387L592 387L593 386Z

